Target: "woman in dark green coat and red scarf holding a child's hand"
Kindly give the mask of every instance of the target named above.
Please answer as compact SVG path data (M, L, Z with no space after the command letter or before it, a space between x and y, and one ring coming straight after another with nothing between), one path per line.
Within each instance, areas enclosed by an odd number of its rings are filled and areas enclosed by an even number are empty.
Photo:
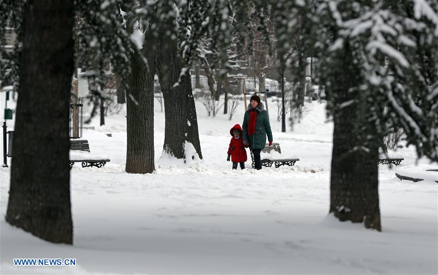
M249 145L254 155L255 169L261 169L260 151L265 148L266 135L269 145L272 145L271 124L269 124L268 112L258 95L253 95L248 105L242 123L243 144Z

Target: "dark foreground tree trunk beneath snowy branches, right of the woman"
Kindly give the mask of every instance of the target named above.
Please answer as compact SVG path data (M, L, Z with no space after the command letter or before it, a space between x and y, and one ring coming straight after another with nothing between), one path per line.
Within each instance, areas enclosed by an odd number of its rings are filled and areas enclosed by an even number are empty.
M352 56L347 52L344 62L338 64L342 66L340 68L344 68L344 72L337 74L333 82L340 89L339 102L350 101L350 88L361 83L358 79L360 72L352 66L352 60ZM361 103L351 104L338 109L333 115L330 213L340 221L365 223L366 228L381 231L378 193L380 140L373 137L371 125L365 126L367 110L364 106L365 104ZM367 138L374 138L375 145L364 148Z

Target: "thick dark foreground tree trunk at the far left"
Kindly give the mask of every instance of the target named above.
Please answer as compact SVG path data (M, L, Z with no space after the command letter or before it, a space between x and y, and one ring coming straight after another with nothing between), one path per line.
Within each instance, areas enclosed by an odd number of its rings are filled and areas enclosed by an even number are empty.
M73 243L69 98L73 1L26 1L6 221L51 242Z

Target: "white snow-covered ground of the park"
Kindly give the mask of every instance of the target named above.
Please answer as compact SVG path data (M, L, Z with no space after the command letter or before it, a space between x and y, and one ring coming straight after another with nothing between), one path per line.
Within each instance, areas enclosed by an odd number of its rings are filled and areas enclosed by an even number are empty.
M100 169L73 166L73 246L5 222L10 170L1 168L1 274L437 274L438 185L400 181L381 165L383 231L338 222L328 215L332 123L324 103L307 109L301 123L281 133L269 99L274 142L300 161L261 171L232 171L226 161L242 103L231 121L221 113L207 117L197 103L203 159L191 164L162 157L164 113L155 104L152 174L124 171L125 114L102 127L96 118L96 130L83 136L92 155L111 161ZM401 166L430 164L412 147L396 153ZM13 258L76 258L76 266L17 267Z

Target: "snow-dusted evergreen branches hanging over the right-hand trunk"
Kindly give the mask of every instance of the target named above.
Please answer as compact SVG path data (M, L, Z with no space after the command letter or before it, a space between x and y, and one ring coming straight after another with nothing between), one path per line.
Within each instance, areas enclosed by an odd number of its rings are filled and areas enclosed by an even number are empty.
M328 71L340 69L334 60L349 49L362 79L350 96L358 106L365 103L367 123L381 137L402 128L419 157L437 161L438 1L317 2L316 14L306 16L317 37L318 77L327 81L330 111L343 102Z

